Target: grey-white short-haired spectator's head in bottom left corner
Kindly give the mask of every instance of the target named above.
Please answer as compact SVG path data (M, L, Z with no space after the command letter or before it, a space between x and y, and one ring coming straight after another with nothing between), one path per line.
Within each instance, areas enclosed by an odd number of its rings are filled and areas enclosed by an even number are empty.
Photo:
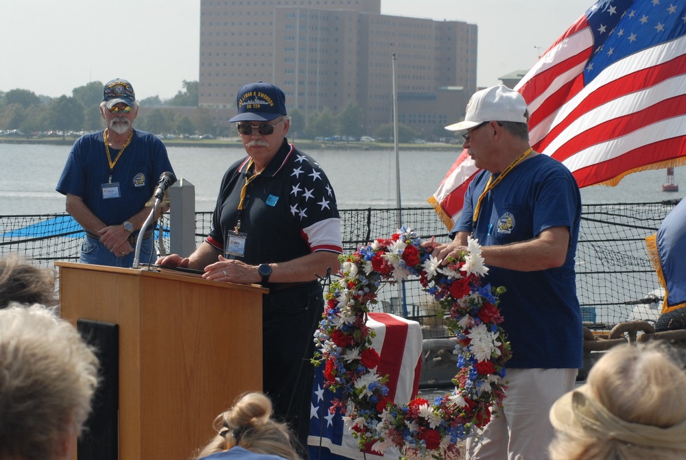
M0 309L0 459L68 458L91 412L97 370L76 328L51 309Z

